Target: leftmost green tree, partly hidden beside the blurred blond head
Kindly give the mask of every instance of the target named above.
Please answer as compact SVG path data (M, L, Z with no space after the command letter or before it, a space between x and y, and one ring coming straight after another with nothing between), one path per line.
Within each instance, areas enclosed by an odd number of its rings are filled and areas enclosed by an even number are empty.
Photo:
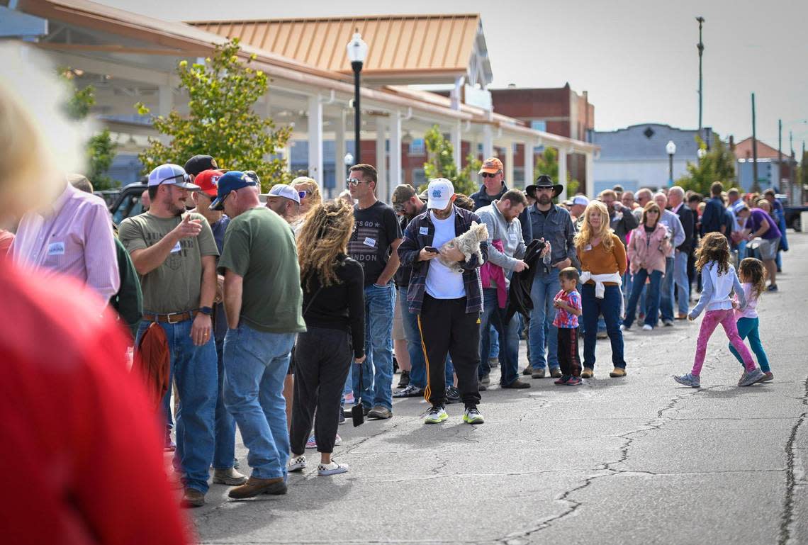
M73 82L74 72L72 69L60 69L59 74L71 90L70 98L65 103L65 112L70 119L77 121L86 119L90 115L90 108L95 106L95 87L86 86L78 89ZM116 145L112 141L112 136L108 128L103 129L95 136L91 136L86 144L87 173L86 176L92 182L95 190L112 189L120 187L120 182L107 176L107 170L112 166L115 158Z

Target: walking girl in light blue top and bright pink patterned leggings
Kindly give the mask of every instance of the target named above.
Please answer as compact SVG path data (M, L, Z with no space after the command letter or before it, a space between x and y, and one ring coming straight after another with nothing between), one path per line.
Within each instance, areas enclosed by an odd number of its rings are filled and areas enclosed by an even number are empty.
M755 367L752 354L747 346L743 344L738 335L738 327L735 325L730 291L734 289L738 297L739 308L743 310L747 306L747 298L743 293L743 288L735 274L734 266L730 265L730 247L726 242L726 237L721 233L708 233L701 239L701 245L696 250L696 270L701 273L701 297L696 307L688 314L688 320L693 321L706 308L705 317L701 321L699 337L696 341L696 358L693 361L693 369L687 375L676 376L673 379L679 384L692 388L701 387L701 366L705 362L707 352L707 342L713 335L713 331L722 325L726 337L730 339L730 344L738 350L743 365L746 368L743 376L739 380L739 386L751 386L766 375Z

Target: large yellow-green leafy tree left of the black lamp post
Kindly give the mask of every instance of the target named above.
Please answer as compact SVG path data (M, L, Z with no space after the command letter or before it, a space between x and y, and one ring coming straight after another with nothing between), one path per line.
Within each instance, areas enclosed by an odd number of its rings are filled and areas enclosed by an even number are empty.
M269 78L250 67L255 55L240 60L239 49L234 39L217 45L204 64L179 62L179 86L188 93L188 115L174 110L154 118L154 128L170 141L149 139L149 147L139 155L144 172L166 162L183 165L188 157L204 153L222 168L255 170L263 191L291 180L284 161L268 157L286 145L292 129L276 130L271 119L253 111L267 93ZM135 107L141 115L149 113L142 103Z

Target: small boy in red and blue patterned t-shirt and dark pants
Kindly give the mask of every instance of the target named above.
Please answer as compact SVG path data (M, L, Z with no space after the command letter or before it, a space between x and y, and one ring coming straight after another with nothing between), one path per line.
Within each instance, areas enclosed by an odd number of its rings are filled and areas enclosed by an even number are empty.
M558 273L561 291L553 298L556 316L553 325L558 328L558 366L562 376L555 384L578 386L581 384L581 358L578 355L578 317L581 315L581 294L578 270L568 266Z

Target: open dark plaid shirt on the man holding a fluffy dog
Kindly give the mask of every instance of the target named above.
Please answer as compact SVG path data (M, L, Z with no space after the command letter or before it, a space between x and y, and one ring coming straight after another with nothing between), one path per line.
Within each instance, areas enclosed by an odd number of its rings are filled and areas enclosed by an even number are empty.
M482 224L480 217L474 212L469 212L463 208L454 207L455 212L455 236L471 228L471 222L476 221ZM427 287L427 272L429 272L428 261L418 261L418 254L424 246L432 245L432 238L435 237L435 224L432 223L429 211L420 216L415 216L406 226L404 239L398 246L398 258L401 259L401 266L411 266L412 276L410 276L410 286L407 288L406 300L407 308L413 314L421 313L423 294ZM463 286L465 287L465 312L482 312L482 282L480 282L480 266L488 258L488 242L480 243L482 262L477 256L472 256L469 261L461 261L463 267Z

